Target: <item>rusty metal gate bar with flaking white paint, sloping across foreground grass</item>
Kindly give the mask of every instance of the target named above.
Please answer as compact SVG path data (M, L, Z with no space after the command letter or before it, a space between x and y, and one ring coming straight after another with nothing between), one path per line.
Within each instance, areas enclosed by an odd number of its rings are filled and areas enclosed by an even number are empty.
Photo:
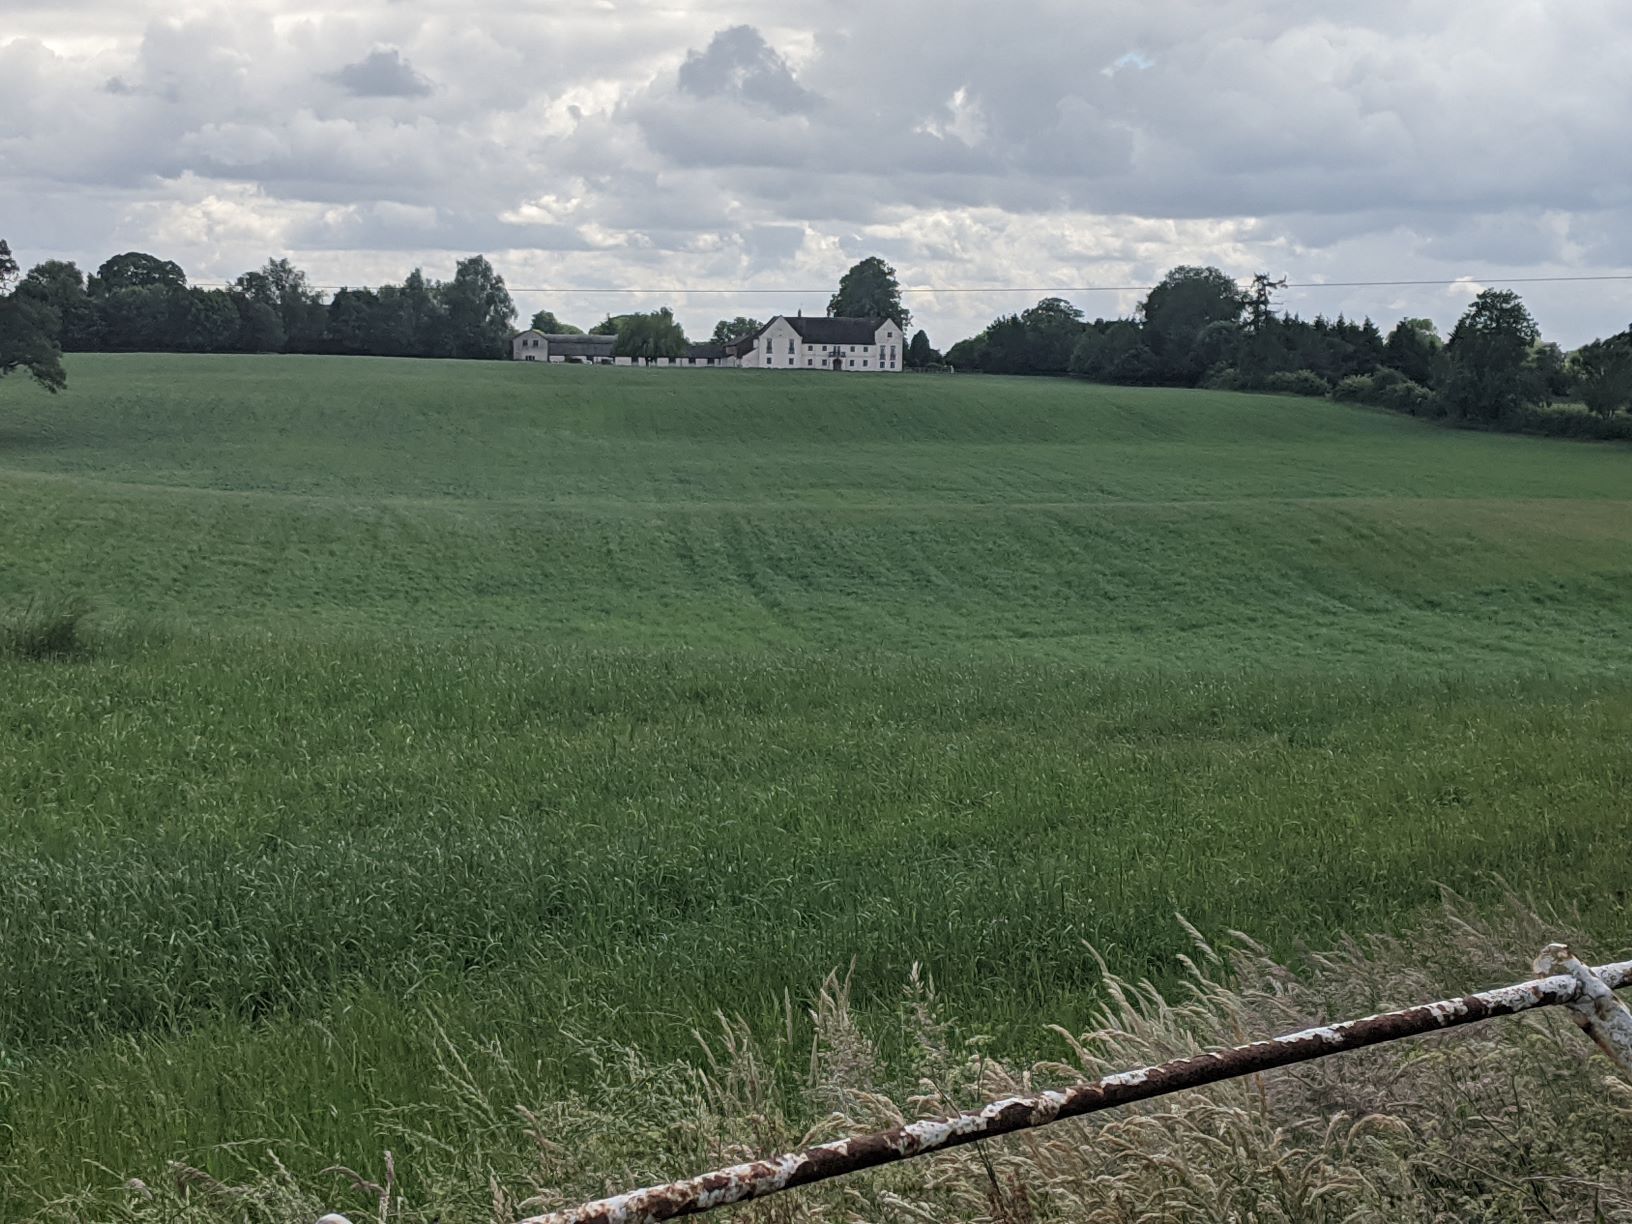
M1301 1033L1288 1033L1232 1049L1191 1054L1160 1066L1106 1075L1093 1084L1079 1084L1062 1092L1040 1092L1033 1097L999 1100L953 1118L916 1121L881 1134L819 1144L803 1152L734 1165L685 1182L633 1190L615 1198L586 1203L581 1208L532 1216L521 1224L654 1224L679 1216L694 1216L813 1182L826 1182L831 1177L862 1169L911 1160L916 1155L960 1147L1012 1131L1048 1126L1064 1118L1080 1118L1182 1089L1198 1089L1204 1084L1239 1079L1291 1062L1309 1062L1346 1049L1459 1028L1501 1015L1518 1015L1536 1007L1570 1007L1577 1023L1603 1046L1606 1054L1616 1059L1625 1074L1632 1075L1632 1062L1624 1058L1629 1051L1622 1044L1627 1031L1632 1031L1632 1015L1627 1015L1625 1007L1612 994L1616 989L1632 986L1632 961L1590 969L1570 956L1563 945L1552 945L1542 953L1537 969L1546 973L1554 965L1565 971L1461 999L1421 1004L1400 1012L1371 1015L1364 1020L1306 1028Z

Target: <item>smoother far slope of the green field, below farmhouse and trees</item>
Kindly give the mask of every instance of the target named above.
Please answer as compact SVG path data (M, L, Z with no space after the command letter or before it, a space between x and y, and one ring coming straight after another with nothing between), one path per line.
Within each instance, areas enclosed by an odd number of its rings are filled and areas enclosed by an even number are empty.
M0 398L0 574L194 627L1320 671L1625 645L1624 447L1020 380L73 375Z

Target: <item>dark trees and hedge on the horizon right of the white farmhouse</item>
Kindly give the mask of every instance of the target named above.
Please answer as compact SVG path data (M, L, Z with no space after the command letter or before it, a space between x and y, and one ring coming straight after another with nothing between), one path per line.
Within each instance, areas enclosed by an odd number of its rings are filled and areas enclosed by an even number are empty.
M1217 268L1175 268L1136 318L1097 318L1059 297L1002 315L947 351L958 370L1072 374L1129 387L1286 392L1413 416L1549 434L1632 439L1632 328L1563 353L1518 294L1487 289L1449 338L1426 318L1384 335L1276 312L1268 276L1252 289ZM1578 401L1585 411L1557 405Z

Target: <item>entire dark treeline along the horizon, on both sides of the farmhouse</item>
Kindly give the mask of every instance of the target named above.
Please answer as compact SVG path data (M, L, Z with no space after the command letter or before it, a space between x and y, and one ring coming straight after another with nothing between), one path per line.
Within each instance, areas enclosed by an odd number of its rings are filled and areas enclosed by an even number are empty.
M180 264L144 251L116 255L91 276L62 259L20 276L0 243L0 294L13 281L0 297L0 374L28 367L51 387L64 384L57 351L503 359L516 323L504 277L481 255L460 259L450 281L416 268L401 284L325 297L289 259L269 259L227 287L202 287L188 284ZM1089 322L1071 302L1048 297L996 318L945 357L917 331L906 366L1284 392L1457 423L1632 439L1632 328L1567 354L1541 338L1518 294L1487 289L1449 338L1425 318L1404 318L1384 335L1369 318L1278 312L1278 287L1257 276L1242 290L1217 268L1175 268L1134 318ZM894 269L876 256L845 273L829 310L911 323ZM548 310L532 325L578 331ZM757 328L754 318L720 320L712 338L725 343ZM607 317L591 331L619 336L617 351L633 357L682 356L687 346L667 308Z

